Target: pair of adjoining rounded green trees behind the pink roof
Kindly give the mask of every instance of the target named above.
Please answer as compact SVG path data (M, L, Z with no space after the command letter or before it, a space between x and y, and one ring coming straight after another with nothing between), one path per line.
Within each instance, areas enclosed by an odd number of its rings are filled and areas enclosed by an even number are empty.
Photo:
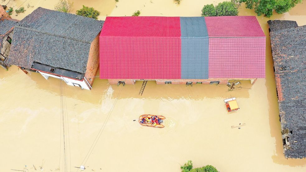
M237 16L238 6L233 2L224 1L214 7L213 4L202 8L202 16Z

